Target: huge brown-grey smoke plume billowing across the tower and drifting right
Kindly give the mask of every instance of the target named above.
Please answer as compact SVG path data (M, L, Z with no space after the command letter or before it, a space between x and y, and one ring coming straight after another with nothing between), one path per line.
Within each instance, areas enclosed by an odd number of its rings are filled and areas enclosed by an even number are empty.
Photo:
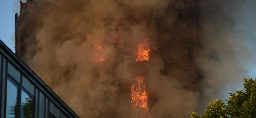
M220 11L220 3L210 1L201 4L217 8L202 9L205 78L198 91L184 88L191 78L179 80L164 72L166 62L157 52L172 40L165 30L175 25L177 11L194 7L194 2L188 2L49 0L51 5L35 15L36 29L31 33L36 41L26 41L24 60L82 118L140 117L131 107L130 87L136 76L145 77L152 118L189 117L192 111L200 111L198 106L204 109L199 100L211 100L202 97L202 91L218 98L223 86L232 78L242 79L246 70L237 63L241 59L234 51L237 43L227 40L233 38L226 34L234 33L234 19ZM145 37L150 59L138 62L134 53Z

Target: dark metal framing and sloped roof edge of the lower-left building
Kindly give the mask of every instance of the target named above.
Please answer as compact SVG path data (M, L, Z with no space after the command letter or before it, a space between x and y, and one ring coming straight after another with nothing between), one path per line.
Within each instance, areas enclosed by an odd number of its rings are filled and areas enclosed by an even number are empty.
M45 95L45 117L49 116L49 101L52 101L56 107L60 109L69 118L79 118L79 116L63 102L57 94L55 94L20 58L18 58L1 40L0 40L0 54L1 54L1 102L0 102L0 118L4 118L5 106L3 107L4 100L6 97L6 80L7 80L7 62L11 62L18 70L21 72L21 76L25 75L28 80L30 80L35 85L35 95L34 95L34 108L36 118L38 115L38 102L39 102L39 91ZM22 77L21 77L22 85ZM26 89L26 88L24 88ZM21 91L21 88L20 88ZM21 93L20 93L21 94ZM36 110L35 110L36 109ZM4 111L4 112L3 112ZM60 114L61 115L61 114ZM60 116L61 117L61 116Z

